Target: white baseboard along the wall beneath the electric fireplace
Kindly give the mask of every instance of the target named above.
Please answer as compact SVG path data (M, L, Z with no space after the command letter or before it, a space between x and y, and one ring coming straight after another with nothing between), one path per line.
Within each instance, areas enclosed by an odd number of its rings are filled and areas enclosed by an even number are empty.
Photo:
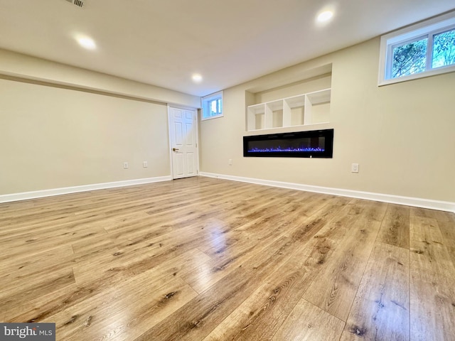
M440 210L455 213L455 202L422 199L419 197L402 197L400 195L389 195L382 193L361 192L358 190L343 190L341 188L330 188L313 185L302 185L300 183L284 183L282 181L262 180L256 178L244 178L242 176L224 175L215 173L199 172L201 176L209 178L220 178L225 180L241 181L243 183L255 183L257 185L267 185L272 187L289 188L291 190L306 190L307 192L316 192L331 195L341 195L342 197L355 197L358 199L374 200L380 202L390 202L392 204L407 205L414 207L429 208L431 210Z

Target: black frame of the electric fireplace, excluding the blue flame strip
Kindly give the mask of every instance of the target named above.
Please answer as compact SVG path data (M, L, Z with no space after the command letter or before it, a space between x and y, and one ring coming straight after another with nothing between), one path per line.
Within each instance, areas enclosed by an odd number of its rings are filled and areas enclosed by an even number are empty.
M293 140L293 139L314 139L323 137L323 151L249 151L250 142L272 141L272 140ZM333 158L333 129L298 131L294 133L266 134L243 136L243 156L262 158Z

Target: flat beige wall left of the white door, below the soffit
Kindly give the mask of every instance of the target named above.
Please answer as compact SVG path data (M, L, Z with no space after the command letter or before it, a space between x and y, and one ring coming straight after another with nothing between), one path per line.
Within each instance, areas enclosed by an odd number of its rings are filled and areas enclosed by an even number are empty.
M0 94L0 195L171 174L166 104L2 79Z

